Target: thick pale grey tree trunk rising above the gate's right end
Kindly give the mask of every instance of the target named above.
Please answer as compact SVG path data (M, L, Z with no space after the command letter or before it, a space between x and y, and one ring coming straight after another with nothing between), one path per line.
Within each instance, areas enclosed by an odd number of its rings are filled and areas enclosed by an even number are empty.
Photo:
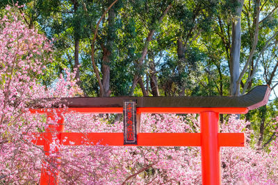
M231 30L231 58L230 58L230 94L231 96L240 95L240 87L237 84L240 76L240 45L241 45L241 10L243 8L243 0L234 0L236 4L236 17L234 17Z

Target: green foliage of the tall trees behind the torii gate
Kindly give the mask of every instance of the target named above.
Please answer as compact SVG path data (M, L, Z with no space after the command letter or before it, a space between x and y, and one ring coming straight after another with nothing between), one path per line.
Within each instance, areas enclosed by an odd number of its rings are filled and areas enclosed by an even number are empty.
M26 5L22 12L26 14L24 21L29 27L53 39L55 60L47 64L47 73L39 77L44 85L51 86L65 67L74 69L74 44L79 40L80 86L86 95L99 96L99 84L92 69L91 42L97 21L112 2L19 1L19 5ZM10 1L1 1L0 7L5 7L7 3ZM277 37L269 42L270 47L259 58L268 39L278 28L277 10L271 13L277 3L276 0L261 1L258 44L242 84L255 72L253 69L257 60L259 68L247 91L255 85L268 83L277 65ZM159 21L170 4L170 10ZM229 96L231 21L235 19L236 6L230 0L117 1L111 9L114 13L112 18L108 19L109 11L99 24L93 56L101 78L104 77L104 71L101 71L104 65L110 67L110 96L129 95L135 75L142 76L149 96L152 96L150 73L158 78L161 96ZM254 43L255 8L254 1L245 1L241 14L241 67L247 61ZM5 14L3 11L0 13ZM154 30L154 35L141 65L138 60L150 30ZM180 56L177 46L179 41L182 51ZM106 56L108 62L104 60ZM277 80L275 74L272 82ZM134 94L142 96L139 85ZM246 116L252 123L257 139L260 137L261 123L265 124L262 144L273 134L274 126L270 126L270 123L271 118L277 115L276 106L275 100L266 109L256 109Z

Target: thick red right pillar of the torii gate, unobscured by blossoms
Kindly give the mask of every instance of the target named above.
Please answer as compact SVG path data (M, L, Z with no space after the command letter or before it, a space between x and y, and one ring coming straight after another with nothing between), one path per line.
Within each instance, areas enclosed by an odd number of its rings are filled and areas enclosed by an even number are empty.
M201 112L202 182L204 185L221 184L218 121L219 113Z

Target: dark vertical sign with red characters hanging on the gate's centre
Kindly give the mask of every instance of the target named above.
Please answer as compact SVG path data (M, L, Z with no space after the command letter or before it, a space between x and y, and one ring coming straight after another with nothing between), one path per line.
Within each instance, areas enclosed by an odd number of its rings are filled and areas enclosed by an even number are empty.
M136 100L124 100L124 145L137 145Z

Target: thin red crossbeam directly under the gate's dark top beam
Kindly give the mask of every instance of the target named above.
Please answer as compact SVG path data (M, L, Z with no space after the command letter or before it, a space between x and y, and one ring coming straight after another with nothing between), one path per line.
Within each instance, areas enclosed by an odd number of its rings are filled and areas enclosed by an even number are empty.
M58 112L78 113L114 113L122 114L122 107L79 107L79 108L51 108ZM31 113L45 114L47 109L29 109ZM219 114L246 114L247 107L137 107L137 114L152 113L152 114L199 114L201 112L217 112Z

